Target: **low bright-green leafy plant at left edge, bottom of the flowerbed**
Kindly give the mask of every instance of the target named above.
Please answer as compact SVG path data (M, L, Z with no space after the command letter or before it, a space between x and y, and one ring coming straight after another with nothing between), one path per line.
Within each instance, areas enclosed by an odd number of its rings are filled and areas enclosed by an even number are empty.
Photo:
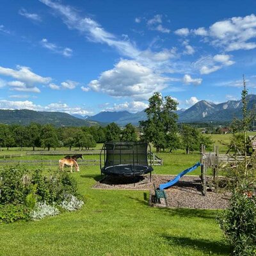
M17 220L28 220L29 215L24 205L0 204L0 223L12 223Z

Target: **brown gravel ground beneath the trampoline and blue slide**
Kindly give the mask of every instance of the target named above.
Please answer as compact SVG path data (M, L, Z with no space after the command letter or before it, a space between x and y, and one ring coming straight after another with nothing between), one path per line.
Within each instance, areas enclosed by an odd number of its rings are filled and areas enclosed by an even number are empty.
M155 195L154 186L159 186L172 180L173 175L152 175L150 182L149 175L136 177L134 186L133 177L106 177L97 182L93 188L96 189L135 189L150 190L149 204L156 207L170 208L193 208L193 209L225 209L228 207L228 198L230 195L226 193L214 193L207 191L207 195L202 195L202 187L198 176L187 175L182 177L175 186L165 189L167 195L167 205L164 198L161 198L161 204L154 204L151 195Z

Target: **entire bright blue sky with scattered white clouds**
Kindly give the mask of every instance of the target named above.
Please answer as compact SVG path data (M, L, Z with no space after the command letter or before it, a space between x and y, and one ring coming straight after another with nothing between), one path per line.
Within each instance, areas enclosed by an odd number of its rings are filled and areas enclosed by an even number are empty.
M256 1L1 0L0 108L141 111L256 93Z

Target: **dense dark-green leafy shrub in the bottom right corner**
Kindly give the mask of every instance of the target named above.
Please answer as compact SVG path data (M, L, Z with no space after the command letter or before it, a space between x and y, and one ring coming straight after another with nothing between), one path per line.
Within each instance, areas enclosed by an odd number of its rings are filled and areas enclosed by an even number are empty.
M219 216L220 227L233 255L256 255L256 196L234 189L230 207Z

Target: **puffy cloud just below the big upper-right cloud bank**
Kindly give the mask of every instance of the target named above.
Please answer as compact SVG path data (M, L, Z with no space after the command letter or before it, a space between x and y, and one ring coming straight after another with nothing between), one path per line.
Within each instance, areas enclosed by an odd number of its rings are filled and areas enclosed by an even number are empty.
M210 74L223 67L233 65L235 61L230 60L231 55L216 54L214 56L202 56L193 63L193 67L200 71L200 74Z

